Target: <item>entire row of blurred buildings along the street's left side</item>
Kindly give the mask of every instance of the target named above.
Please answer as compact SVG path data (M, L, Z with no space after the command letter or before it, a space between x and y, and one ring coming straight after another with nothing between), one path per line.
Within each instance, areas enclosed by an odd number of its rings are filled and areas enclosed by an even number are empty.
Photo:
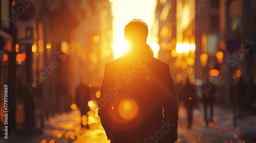
M5 39L1 49L1 86L8 84L12 59L14 120L18 118L18 125L40 128L49 116L71 110L75 87L82 78L90 87L98 88L104 67L101 63L113 59L110 3L107 0L0 2L3 7L0 35ZM16 34L10 35L9 29ZM10 58L10 53L15 59ZM0 104L3 105L2 100Z

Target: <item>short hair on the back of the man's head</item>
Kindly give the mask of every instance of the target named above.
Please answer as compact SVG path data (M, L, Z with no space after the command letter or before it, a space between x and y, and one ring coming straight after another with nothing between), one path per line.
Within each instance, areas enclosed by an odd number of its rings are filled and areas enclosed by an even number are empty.
M142 19L133 19L124 27L124 37L130 40L146 42L147 34L147 24Z

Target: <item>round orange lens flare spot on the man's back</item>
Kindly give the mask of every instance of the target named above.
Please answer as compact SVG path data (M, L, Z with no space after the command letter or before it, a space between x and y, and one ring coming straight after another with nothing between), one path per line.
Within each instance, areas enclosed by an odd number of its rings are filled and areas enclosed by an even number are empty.
M131 120L138 114L138 105L133 99L124 99L118 106L118 113L125 120Z

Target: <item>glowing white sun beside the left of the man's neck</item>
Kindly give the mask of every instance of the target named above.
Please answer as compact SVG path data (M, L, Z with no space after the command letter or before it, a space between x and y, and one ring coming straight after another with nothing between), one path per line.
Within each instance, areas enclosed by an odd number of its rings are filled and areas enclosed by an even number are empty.
M114 58L117 59L127 51L129 43L124 39L119 39L113 43Z

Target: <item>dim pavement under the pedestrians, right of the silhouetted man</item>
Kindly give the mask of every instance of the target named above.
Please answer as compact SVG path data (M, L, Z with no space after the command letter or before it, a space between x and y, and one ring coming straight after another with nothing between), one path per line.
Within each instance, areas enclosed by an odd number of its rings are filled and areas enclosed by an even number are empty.
M203 106L194 110L194 121L187 129L186 110L179 108L178 142L256 142L256 114L237 118L233 128L232 108L214 107L214 122L205 127Z

